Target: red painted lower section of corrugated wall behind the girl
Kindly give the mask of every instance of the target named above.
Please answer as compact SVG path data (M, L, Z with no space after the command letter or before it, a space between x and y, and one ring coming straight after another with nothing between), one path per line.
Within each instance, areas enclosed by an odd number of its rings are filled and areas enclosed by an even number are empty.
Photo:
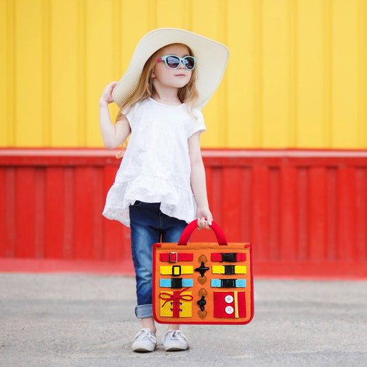
M367 277L366 151L203 157L214 220L253 243L255 275ZM105 149L0 149L0 260L130 264L129 229L101 216L119 164Z

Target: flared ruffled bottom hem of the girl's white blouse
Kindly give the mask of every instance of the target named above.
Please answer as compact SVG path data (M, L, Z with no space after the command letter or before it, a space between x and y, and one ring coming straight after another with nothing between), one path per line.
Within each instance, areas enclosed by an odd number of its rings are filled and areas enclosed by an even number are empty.
M160 202L162 213L187 223L196 215L196 201L191 191L164 178L138 176L127 182L114 182L107 193L103 216L130 227L129 206L136 200Z

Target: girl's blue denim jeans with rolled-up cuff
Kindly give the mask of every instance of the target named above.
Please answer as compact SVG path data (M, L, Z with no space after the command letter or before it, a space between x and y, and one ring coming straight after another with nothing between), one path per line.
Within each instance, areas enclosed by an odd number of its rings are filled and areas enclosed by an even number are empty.
M129 207L132 259L136 274L136 317L153 316L152 247L158 242L178 242L187 226L184 220L166 216L159 202L136 201Z

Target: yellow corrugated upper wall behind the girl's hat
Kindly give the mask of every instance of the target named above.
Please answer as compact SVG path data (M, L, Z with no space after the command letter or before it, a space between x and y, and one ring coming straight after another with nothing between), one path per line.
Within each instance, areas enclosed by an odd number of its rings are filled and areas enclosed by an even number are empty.
M160 27L231 50L204 147L367 148L367 0L0 0L0 146L100 147L103 87Z

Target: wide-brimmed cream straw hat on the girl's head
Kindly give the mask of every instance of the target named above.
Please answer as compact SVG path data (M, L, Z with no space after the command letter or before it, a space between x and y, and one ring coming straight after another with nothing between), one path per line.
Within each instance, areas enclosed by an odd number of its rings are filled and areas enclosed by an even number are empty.
M202 109L206 105L222 80L227 67L229 50L222 43L178 28L159 28L143 36L136 46L127 71L112 92L116 105L123 106L134 94L147 59L154 52L171 43L183 43L193 51L197 69L196 88L199 93L194 107Z

